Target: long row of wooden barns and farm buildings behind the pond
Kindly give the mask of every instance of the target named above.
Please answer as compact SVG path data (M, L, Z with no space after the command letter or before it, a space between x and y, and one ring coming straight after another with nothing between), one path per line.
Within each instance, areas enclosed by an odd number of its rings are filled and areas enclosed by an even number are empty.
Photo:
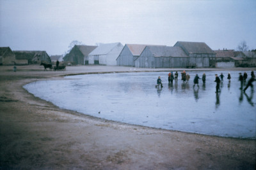
M6 56L10 56L9 58ZM7 59L8 58L8 59ZM15 59L13 59L15 58ZM61 56L47 55L45 51L13 51L0 48L0 64L36 64L61 60ZM174 46L138 45L121 43L99 46L75 45L65 57L65 64L108 65L131 67L255 67L255 52L212 50L202 42L177 41Z

